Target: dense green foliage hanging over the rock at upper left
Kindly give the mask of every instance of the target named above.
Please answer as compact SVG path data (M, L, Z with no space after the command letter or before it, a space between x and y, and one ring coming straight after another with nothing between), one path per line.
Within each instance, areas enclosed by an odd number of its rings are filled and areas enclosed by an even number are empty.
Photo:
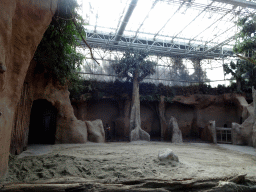
M37 61L36 72L46 73L62 85L67 82L77 85L78 76L74 73L82 63L84 56L76 52L79 37L72 18L75 17L78 28L84 31L82 18L77 14L76 0L60 0L51 24L40 42L34 59ZM82 30L83 29L83 30Z

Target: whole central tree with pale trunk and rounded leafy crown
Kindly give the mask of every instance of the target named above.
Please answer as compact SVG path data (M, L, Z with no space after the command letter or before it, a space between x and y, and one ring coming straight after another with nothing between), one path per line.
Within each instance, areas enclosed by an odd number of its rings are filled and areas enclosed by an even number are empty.
M124 57L113 64L115 73L121 79L133 82L131 114L130 114L130 141L150 140L147 132L141 129L139 83L148 75L155 73L156 63L146 60L148 53L142 50L129 49Z

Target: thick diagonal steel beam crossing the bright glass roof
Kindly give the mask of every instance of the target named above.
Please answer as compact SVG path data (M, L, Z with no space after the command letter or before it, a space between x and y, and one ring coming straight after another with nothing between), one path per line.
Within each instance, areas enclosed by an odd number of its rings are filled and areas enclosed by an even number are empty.
M115 36L115 40L114 40L115 44L118 44L119 40L121 39L121 37L124 33L124 30L126 28L126 25L129 22L129 19L130 19L132 13L133 13L133 10L137 5L137 2L138 2L138 0L132 0L130 6L129 6L129 8L128 8L125 16L124 16L124 20L122 21L122 24L121 24L120 28L118 29L117 34Z

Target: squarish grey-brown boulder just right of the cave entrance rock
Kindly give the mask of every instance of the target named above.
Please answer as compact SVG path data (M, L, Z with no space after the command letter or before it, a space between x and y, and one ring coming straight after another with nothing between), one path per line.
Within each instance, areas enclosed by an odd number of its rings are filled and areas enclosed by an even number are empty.
M85 121L88 131L88 140L96 143L105 142L105 132L102 120Z

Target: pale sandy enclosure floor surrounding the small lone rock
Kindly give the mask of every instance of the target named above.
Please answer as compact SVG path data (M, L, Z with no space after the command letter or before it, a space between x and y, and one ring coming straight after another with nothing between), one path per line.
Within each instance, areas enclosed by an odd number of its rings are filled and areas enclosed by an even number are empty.
M179 163L163 163L158 152L170 148ZM256 150L248 146L167 142L33 145L10 158L5 183L63 176L106 182L138 178L212 179L247 174L256 178Z

